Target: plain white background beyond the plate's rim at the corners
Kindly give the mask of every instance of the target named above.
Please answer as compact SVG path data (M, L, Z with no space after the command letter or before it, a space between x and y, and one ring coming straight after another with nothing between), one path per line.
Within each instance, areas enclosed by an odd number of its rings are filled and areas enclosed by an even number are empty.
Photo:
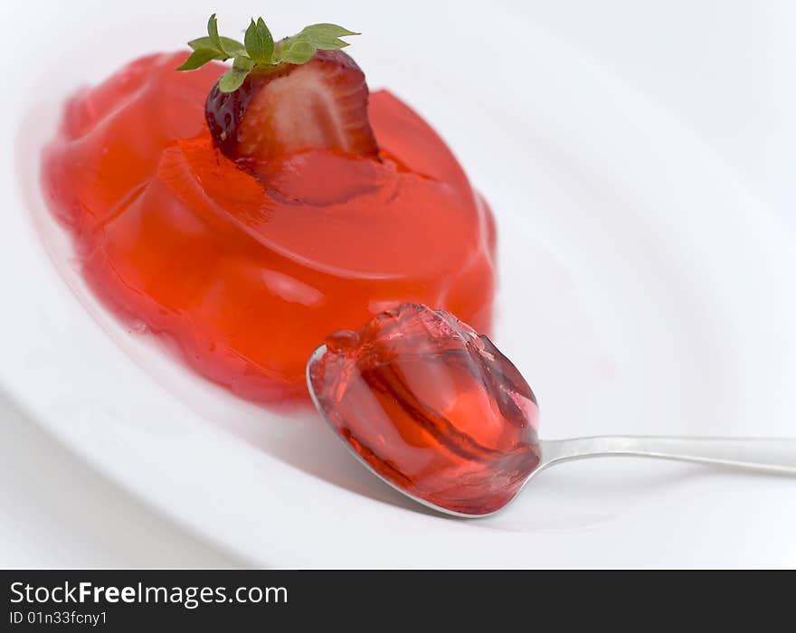
M367 5L372 13L381 4ZM796 231L791 176L796 3L503 0L433 5L429 14L441 20L439 45L444 45L445 28L469 28L475 38L499 37L488 33L485 12L530 16L667 108ZM396 10L392 3L383 6L385 12ZM79 27L81 14L90 10L81 3L32 7L38 19L63 20L65 28ZM211 6L205 13L212 11ZM316 20L308 15L308 21ZM31 25L16 26L33 36ZM431 51L432 44L426 45ZM6 405L0 405L0 429L0 565L240 564L107 483Z

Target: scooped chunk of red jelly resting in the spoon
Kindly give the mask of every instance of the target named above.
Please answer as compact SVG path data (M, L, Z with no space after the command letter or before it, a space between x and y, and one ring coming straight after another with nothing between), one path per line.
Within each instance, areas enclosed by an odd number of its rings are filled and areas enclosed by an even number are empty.
M539 463L539 410L516 367L450 313L406 304L326 339L318 408L373 470L431 505L487 515Z

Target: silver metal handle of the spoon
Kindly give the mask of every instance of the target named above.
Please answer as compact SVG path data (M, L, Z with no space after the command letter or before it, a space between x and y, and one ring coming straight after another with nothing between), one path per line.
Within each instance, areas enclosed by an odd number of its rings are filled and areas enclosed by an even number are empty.
M602 436L540 442L540 468L570 459L648 457L796 475L796 439Z

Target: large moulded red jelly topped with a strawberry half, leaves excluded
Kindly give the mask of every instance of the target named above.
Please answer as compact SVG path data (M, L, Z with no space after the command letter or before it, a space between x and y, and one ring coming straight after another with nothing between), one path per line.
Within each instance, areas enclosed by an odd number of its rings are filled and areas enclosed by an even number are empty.
M405 301L488 331L491 214L419 115L384 90L368 101L343 52L255 68L225 95L229 67L175 71L186 57L83 90L43 158L107 306L259 402L306 398L324 336Z

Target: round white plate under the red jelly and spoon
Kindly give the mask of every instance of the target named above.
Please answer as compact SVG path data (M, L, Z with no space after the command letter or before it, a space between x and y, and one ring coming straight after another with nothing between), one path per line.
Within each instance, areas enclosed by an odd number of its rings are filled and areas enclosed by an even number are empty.
M715 156L521 16L372 5L333 18L319 3L280 7L275 30L321 16L368 33L354 52L372 85L420 109L487 194L496 343L534 386L543 436L796 435L793 245ZM495 517L452 520L369 476L316 417L237 401L126 332L73 271L38 153L76 85L194 36L205 16L186 8L144 28L100 12L80 30L62 18L42 41L68 57L6 73L18 136L3 159L0 387L101 472L263 565L796 565L787 478L586 460ZM477 26L500 37L473 54Z

